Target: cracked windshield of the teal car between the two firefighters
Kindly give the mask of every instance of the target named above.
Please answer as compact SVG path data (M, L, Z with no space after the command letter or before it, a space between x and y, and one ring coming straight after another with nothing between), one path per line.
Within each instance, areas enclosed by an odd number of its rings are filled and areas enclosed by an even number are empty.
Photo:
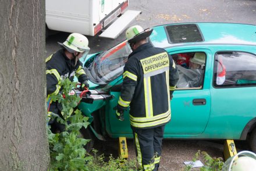
M123 67L131 53L130 45L124 41L98 55L88 68L90 80L96 84L108 84L123 74Z

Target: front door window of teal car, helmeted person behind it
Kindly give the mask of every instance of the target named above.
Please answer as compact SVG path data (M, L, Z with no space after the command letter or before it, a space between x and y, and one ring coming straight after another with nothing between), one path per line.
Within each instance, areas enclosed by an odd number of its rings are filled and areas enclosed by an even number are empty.
M206 54L204 52L189 52L173 54L172 57L179 70L179 81L176 84L177 89L202 88Z

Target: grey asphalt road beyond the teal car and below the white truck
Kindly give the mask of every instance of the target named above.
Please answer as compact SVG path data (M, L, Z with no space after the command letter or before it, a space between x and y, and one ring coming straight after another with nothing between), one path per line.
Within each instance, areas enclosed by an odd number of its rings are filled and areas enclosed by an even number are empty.
M139 24L144 29L168 23L226 22L256 24L255 0L130 0L129 9L142 13L130 26ZM70 33L57 33L46 40L45 56L59 49ZM115 40L88 36L90 54L104 51L125 40L125 33Z

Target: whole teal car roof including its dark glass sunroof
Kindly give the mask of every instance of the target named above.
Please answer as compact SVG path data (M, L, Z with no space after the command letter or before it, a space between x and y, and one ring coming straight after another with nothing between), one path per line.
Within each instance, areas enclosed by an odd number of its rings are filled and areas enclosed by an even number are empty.
M256 26L251 24L178 23L152 29L150 41L161 48L203 44L256 45Z

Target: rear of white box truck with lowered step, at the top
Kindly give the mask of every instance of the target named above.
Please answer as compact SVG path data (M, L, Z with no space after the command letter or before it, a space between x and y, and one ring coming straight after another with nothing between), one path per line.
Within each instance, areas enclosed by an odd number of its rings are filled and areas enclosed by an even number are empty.
M129 0L46 0L46 35L57 30L116 38L141 13L128 5Z

